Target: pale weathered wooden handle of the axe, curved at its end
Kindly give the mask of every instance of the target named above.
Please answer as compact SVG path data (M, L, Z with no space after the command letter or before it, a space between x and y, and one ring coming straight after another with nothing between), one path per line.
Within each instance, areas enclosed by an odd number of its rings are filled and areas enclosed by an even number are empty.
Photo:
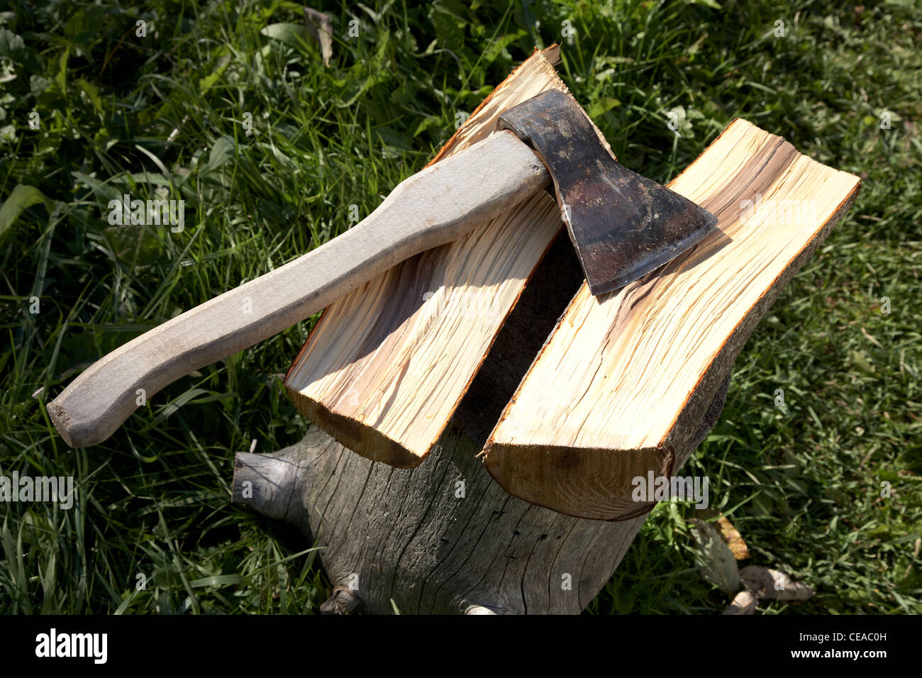
M397 185L367 219L337 238L102 357L48 404L52 422L69 446L101 443L136 410L139 389L152 397L410 256L456 240L548 184L544 165L513 133L474 144Z

